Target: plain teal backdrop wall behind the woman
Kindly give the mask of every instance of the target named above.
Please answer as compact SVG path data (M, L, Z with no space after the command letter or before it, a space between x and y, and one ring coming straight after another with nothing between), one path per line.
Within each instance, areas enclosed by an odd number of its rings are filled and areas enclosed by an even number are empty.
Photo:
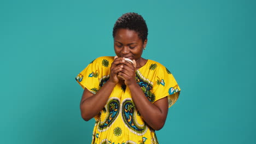
M114 56L112 28L135 11L148 24L144 58L182 89L160 143L256 143L256 2L0 1L0 143L90 143L74 77Z

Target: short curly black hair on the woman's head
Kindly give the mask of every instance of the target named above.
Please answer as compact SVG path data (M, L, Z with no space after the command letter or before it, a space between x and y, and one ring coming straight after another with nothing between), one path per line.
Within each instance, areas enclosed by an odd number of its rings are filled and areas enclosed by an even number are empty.
M148 39L148 27L146 21L137 13L126 13L118 18L113 28L113 38L120 28L130 29L137 32L138 37L142 39L143 43Z

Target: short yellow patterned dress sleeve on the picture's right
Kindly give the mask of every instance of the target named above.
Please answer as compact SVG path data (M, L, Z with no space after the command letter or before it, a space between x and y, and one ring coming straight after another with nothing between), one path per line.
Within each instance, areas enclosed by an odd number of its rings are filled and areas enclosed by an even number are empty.
M168 107L171 107L177 101L180 91L172 73L164 66L159 67L152 89L155 101L168 97Z

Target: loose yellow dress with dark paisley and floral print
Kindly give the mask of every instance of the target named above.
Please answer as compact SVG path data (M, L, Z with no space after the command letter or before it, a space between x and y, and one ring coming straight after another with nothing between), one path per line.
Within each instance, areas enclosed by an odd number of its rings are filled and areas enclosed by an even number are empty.
M109 79L110 65L114 57L99 57L92 61L75 79L91 93ZM151 103L168 97L169 107L178 99L180 88L168 69L148 59L136 71L136 81ZM141 144L158 143L155 130L143 121L131 92L125 85L117 84L102 111L95 117L92 144Z

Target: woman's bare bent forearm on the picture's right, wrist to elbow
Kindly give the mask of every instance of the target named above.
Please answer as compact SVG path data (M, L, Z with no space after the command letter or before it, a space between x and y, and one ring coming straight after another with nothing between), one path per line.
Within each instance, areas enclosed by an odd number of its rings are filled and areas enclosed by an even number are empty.
M167 111L162 111L158 106L150 103L137 83L129 86L129 89L131 91L132 100L144 121L155 130L161 129L164 126L168 108Z

